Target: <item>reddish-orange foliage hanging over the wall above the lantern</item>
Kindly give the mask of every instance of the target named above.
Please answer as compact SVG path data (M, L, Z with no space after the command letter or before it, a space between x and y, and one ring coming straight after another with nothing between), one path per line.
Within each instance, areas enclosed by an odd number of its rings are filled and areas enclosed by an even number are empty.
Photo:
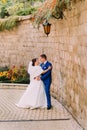
M35 23L39 26L44 20L51 17L63 19L65 9L71 9L72 3L83 0L47 0L37 10L35 14Z

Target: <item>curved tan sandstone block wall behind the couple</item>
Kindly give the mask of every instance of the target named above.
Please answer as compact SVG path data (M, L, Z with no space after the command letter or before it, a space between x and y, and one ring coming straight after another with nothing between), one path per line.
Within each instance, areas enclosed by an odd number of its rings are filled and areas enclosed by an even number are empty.
M0 32L0 66L28 65L46 53L53 63L52 94L87 128L87 0L52 19L47 37L30 20L13 31Z

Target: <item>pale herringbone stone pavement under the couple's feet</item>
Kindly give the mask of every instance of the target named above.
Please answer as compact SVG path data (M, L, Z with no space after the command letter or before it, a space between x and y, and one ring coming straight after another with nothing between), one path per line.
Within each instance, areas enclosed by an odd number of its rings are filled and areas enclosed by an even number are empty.
M0 89L0 130L83 130L54 98L53 108L19 109L21 89Z

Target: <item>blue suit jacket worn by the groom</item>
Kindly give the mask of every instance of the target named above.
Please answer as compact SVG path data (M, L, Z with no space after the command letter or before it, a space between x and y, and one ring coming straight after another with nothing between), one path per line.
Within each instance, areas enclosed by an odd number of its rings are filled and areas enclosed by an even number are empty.
M41 64L41 68L43 70L48 69L49 66L52 66L52 64L50 62L48 62L48 61L46 62L46 64L43 64L43 63ZM52 82L52 74L51 74L51 72L52 72L52 69L48 70L45 74L41 75L41 80L44 82L44 84L48 84L48 85L51 84L51 82Z

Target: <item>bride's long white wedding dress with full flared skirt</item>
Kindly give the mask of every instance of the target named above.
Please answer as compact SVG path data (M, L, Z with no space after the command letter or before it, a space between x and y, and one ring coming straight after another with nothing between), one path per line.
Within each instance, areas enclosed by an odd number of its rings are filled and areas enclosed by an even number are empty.
M32 66L32 62L30 62L28 68L30 84L18 104L16 104L17 107L31 109L47 107L44 84L41 80L37 81L34 79L34 77L39 76L42 72L43 70L40 66Z

